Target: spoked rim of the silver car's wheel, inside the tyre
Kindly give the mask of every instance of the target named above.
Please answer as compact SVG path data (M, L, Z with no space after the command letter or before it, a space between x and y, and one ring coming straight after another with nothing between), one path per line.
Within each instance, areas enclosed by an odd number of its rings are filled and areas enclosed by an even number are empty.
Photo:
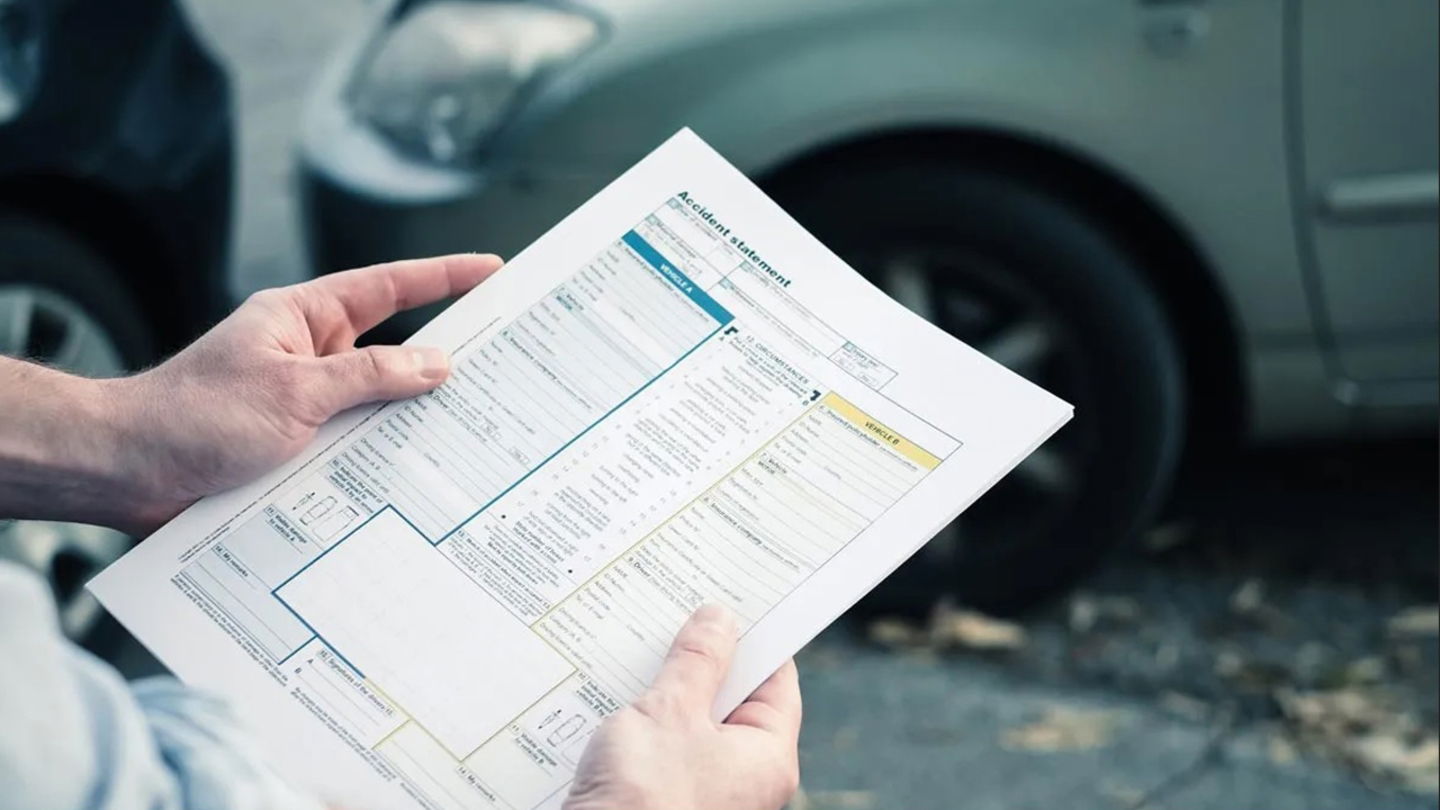
M1077 409L1092 401L1086 356L1056 303L1002 262L953 245L858 258L865 277L916 314ZM926 553L968 561L1051 542L1073 512L1096 445L1090 425L1067 425L942 530Z

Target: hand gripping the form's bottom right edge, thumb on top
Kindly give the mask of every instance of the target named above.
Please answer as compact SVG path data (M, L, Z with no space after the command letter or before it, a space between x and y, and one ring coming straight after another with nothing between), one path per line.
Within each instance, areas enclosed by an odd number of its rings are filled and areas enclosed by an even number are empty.
M590 739L564 810L779 810L799 785L795 662L716 724L734 620L707 605L680 630L655 683Z

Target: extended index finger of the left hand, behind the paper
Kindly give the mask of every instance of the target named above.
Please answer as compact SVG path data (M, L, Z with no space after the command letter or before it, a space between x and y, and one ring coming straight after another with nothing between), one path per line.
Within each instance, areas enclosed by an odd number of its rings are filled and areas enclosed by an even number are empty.
M494 254L454 254L346 270L305 287L337 301L360 334L400 310L468 293L501 264Z

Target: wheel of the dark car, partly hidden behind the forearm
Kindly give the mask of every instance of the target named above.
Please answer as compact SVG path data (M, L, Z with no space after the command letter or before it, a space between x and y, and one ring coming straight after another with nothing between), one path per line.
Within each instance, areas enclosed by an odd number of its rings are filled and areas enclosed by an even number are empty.
M0 355L115 376L151 362L154 344L124 277L104 255L50 222L0 210ZM98 526L0 520L0 559L45 577L60 624L76 640L104 617L85 582L131 543Z

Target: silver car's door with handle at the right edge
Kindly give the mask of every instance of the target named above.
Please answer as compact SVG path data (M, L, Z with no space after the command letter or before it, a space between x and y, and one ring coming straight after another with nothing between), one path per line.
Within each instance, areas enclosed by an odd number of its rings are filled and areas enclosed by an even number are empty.
M1434 0L1290 0L1292 148L1336 388L1365 404L1436 396Z

